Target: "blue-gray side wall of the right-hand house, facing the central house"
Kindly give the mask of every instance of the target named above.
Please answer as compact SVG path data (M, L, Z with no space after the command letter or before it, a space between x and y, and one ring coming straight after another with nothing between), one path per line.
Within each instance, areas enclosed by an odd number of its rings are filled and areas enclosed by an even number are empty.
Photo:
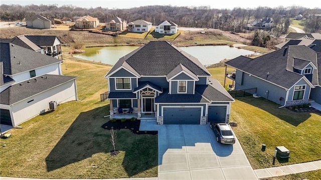
M235 89L257 88L256 92L258 95L277 104L284 105L284 99L286 97L286 90L284 88L261 80L254 76L249 76L249 74L247 73L244 73L242 77L242 74L240 73L242 72L236 71ZM283 97L282 101L280 101L280 97Z

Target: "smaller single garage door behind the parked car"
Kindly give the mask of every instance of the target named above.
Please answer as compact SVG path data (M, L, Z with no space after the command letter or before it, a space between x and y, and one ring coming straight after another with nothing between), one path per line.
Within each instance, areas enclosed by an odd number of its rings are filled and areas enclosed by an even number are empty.
M225 122L227 106L209 106L208 122Z

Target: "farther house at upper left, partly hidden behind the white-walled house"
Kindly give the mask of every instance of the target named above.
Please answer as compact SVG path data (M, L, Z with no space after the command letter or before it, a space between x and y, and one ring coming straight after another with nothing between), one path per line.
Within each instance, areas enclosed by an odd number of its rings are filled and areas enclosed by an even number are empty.
M12 43L41 54L62 59L61 42L57 36L21 35L12 39L0 39L3 43Z

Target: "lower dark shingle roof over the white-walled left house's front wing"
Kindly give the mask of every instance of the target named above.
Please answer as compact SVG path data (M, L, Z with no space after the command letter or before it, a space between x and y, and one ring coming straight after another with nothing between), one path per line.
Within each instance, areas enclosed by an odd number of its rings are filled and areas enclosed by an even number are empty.
M47 77L47 78L46 78ZM53 87L76 79L73 76L43 75L14 84L0 93L0 103L11 105ZM37 81L36 81L37 79ZM21 85L22 84L22 85Z

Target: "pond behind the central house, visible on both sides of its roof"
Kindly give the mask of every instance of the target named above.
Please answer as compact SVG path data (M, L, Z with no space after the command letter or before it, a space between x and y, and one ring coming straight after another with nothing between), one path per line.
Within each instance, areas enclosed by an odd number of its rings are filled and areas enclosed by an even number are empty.
M139 46L108 46L85 48L85 53L74 54L74 57L88 61L101 62L114 65L117 60L128 53L139 48ZM233 59L241 55L259 54L253 51L233 48L229 46L190 46L180 47L183 51L199 59L203 65L219 63L224 59Z

